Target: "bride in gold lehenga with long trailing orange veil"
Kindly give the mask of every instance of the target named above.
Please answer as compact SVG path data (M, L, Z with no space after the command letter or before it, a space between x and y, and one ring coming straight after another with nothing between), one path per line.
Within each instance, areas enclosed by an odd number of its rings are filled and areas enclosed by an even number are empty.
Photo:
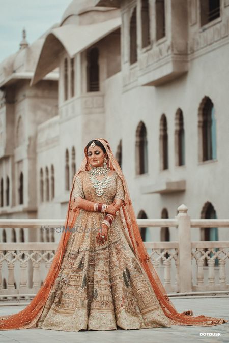
M178 313L142 242L122 170L105 139L90 141L76 172L49 272L31 303L0 329L63 331L212 326Z

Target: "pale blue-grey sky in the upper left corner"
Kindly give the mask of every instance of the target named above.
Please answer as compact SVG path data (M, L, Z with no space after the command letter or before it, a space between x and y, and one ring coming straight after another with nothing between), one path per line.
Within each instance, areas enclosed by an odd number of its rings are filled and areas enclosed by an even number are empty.
M60 22L71 0L0 0L0 63L19 49L22 30L29 44Z

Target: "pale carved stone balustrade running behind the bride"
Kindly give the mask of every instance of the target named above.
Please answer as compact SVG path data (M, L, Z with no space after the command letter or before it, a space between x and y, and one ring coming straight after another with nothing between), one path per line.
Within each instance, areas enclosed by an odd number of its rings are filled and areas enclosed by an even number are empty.
M191 220L188 208L178 207L175 219L137 219L139 227L176 227L178 240L145 242L153 265L168 293L229 292L226 276L229 241L191 241L192 228L229 228L229 219ZM64 220L0 220L1 228L41 225L61 227ZM63 227L64 228L64 227ZM31 299L52 263L58 243L0 243L0 300ZM217 260L217 267L215 261ZM3 278L7 280L4 286Z

